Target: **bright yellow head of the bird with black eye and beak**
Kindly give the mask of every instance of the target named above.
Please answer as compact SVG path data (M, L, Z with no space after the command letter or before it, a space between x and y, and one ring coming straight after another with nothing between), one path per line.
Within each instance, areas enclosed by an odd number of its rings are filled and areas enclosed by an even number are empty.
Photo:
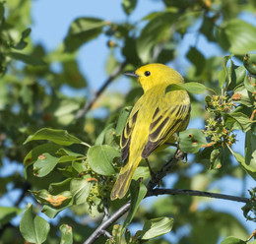
M170 84L184 82L178 72L163 64L148 64L135 72L126 72L124 75L136 77L145 92L156 86L165 88Z

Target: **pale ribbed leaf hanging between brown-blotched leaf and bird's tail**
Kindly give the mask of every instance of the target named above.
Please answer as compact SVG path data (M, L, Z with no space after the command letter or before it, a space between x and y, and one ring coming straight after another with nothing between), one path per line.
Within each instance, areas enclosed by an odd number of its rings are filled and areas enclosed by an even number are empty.
M72 179L70 182L70 191L76 205L85 204L87 202L92 187L92 182L88 181L89 178L92 178L92 176L88 174L82 179Z

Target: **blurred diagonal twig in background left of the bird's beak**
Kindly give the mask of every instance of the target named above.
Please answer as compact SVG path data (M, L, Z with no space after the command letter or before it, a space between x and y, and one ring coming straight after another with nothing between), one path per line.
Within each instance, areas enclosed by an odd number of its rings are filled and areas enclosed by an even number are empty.
M92 98L91 101L87 102L84 106L83 109L79 110L77 112L77 114L75 115L75 119L80 119L83 116L86 115L86 113L91 109L91 107L93 106L93 104L96 102L96 99L98 98L98 96L105 91L105 89L107 88L107 86L117 77L120 75L120 73L122 72L122 70L124 69L124 67L126 66L127 62L123 62L121 64L119 64L112 72L112 74L108 77L108 79L104 82L104 84L102 85L102 87L96 91L95 96Z

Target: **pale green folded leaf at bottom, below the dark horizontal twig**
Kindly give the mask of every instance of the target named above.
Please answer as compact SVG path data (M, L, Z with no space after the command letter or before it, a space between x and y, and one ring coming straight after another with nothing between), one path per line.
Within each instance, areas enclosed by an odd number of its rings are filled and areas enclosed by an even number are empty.
M173 226L173 218L161 216L146 221L141 233L143 240L152 239L168 233Z

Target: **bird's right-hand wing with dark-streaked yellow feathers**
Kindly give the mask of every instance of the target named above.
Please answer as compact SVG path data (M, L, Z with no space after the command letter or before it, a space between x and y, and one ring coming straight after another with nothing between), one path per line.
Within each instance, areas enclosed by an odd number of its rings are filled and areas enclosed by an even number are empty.
M148 142L141 156L147 158L175 132L186 129L190 108L190 100L186 91L166 93L153 115Z

